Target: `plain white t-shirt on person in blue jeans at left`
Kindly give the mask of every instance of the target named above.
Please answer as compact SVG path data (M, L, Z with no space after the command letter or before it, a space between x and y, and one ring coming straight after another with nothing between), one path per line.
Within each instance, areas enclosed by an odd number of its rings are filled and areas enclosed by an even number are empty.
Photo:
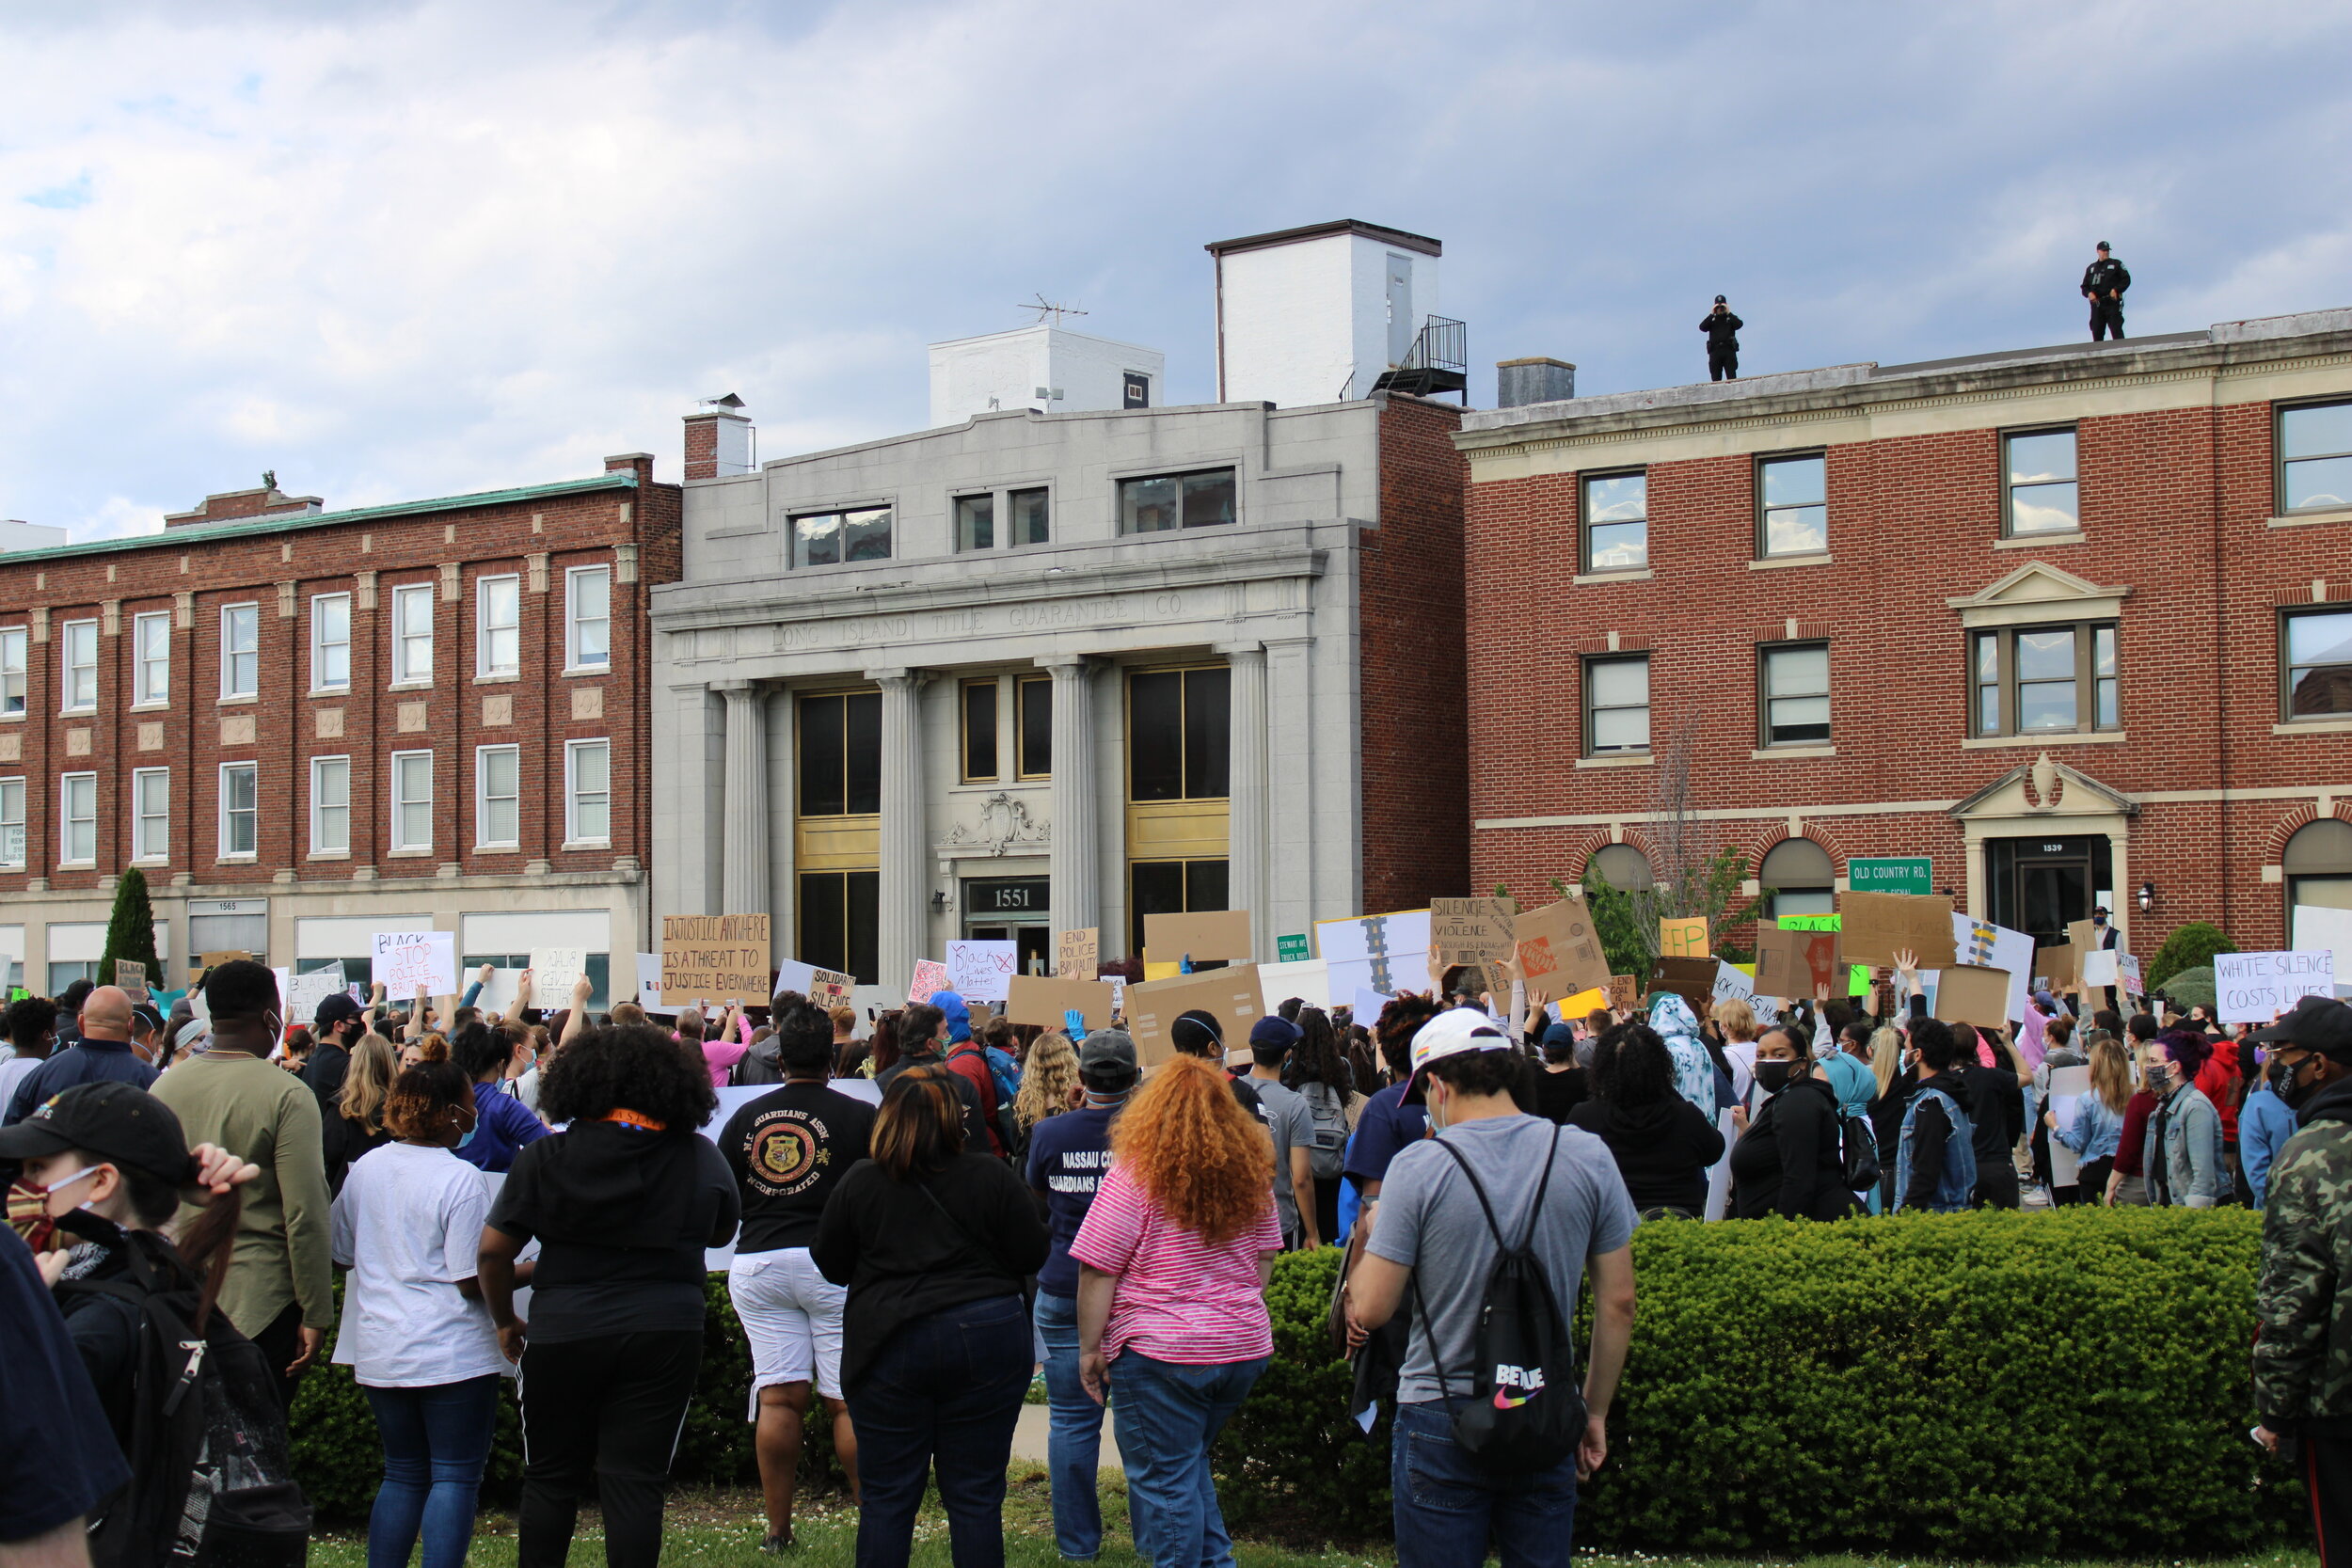
M334 1359L379 1389L463 1382L513 1371L489 1307L456 1281L475 1276L489 1178L449 1150L388 1143L350 1161L334 1199L343 1324Z

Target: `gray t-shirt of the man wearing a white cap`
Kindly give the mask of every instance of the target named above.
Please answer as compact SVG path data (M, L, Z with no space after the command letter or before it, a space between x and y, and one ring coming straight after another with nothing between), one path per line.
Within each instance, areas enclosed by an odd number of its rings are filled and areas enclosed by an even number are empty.
M1486 1185L1486 1201L1494 1204L1494 1222L1505 1241L1517 1244L1526 1234L1536 1182L1543 1180L1545 1150L1555 1133L1559 1152L1536 1225L1536 1255L1552 1279L1559 1309L1576 1312L1585 1258L1613 1253L1632 1241L1635 1208L1609 1145L1576 1126L1555 1128L1541 1117L1484 1117L1449 1126L1439 1138L1461 1150L1477 1171ZM1470 1178L1451 1154L1414 1143L1390 1161L1381 1182L1371 1251L1414 1269L1430 1312L1428 1319L1414 1312L1414 1340L1404 1352L1397 1401L1444 1399L1446 1389L1437 1382L1439 1361L1454 1394L1468 1396L1477 1314L1501 1248L1486 1227L1477 1192L1470 1190ZM1414 1288L1406 1286L1399 1309L1411 1312L1411 1307ZM1430 1354L1430 1324L1437 1326L1437 1356Z

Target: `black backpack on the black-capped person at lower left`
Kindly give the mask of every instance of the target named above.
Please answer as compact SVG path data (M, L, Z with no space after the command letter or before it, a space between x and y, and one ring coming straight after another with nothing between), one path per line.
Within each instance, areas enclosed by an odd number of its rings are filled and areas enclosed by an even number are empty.
M153 1248L153 1253L151 1253ZM125 1279L71 1279L59 1295L113 1295L139 1314L132 1356L132 1483L89 1530L96 1568L280 1568L308 1561L310 1507L294 1483L278 1368L219 1309L198 1335L198 1284L169 1244L125 1234Z

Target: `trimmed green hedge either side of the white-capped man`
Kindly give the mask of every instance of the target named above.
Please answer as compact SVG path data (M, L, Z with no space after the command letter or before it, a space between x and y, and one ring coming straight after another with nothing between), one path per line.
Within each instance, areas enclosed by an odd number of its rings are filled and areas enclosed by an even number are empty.
M1578 1544L2126 1559L2300 1530L2246 1441L2256 1241L2241 1208L1644 1225ZM1275 1269L1275 1366L1218 1446L1237 1523L1388 1533L1388 1427L1357 1436L1322 1338L1334 1269Z

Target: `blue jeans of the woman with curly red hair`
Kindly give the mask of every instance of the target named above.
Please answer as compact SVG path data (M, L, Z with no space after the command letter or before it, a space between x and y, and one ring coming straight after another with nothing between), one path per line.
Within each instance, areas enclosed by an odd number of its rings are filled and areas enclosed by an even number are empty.
M1110 1420L1136 1512L1136 1556L1155 1568L1232 1568L1209 1446L1265 1371L1256 1361L1183 1366L1122 1349L1110 1363Z

